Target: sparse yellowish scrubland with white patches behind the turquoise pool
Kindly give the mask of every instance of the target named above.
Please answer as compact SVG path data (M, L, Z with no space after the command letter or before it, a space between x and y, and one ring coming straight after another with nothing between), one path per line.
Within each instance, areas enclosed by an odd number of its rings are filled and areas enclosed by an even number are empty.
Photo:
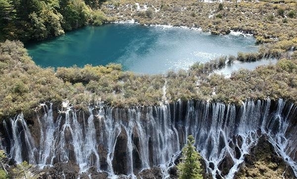
M196 0L108 0L101 10L108 22L134 19L143 25L171 25L199 28L212 34L232 30L252 34L257 44L282 53L297 48L296 1L226 1Z

